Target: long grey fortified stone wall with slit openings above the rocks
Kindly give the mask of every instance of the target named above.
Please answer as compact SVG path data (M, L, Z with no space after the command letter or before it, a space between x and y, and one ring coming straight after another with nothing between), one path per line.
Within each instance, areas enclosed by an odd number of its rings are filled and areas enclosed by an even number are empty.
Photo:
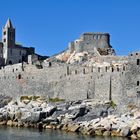
M122 65L15 64L0 70L0 94L42 95L65 100L113 100L118 106L140 106L140 54L114 57ZM102 57L111 62L111 57ZM113 60L112 60L113 61ZM121 108L123 109L123 108Z

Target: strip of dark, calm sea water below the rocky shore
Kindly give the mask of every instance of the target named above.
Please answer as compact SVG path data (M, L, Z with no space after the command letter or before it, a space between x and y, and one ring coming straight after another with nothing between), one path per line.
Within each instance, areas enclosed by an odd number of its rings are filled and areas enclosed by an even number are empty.
M58 130L0 127L0 140L128 140L121 137L91 137Z

